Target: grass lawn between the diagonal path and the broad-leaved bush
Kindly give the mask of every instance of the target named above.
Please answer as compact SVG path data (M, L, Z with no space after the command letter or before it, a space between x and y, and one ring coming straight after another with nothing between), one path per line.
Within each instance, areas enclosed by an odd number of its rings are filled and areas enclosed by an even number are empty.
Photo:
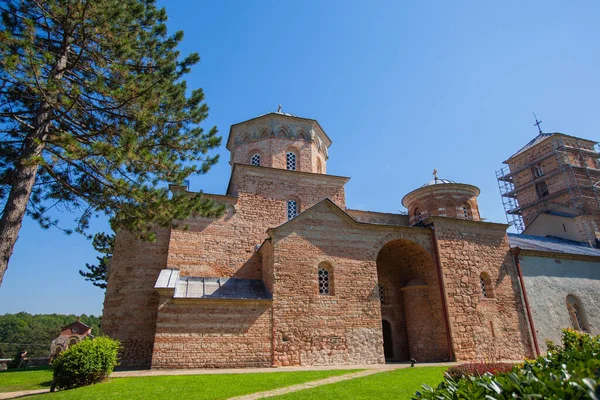
M410 399L421 385L436 387L448 367L418 367L381 372L363 378L323 385L314 389L274 397L292 399Z

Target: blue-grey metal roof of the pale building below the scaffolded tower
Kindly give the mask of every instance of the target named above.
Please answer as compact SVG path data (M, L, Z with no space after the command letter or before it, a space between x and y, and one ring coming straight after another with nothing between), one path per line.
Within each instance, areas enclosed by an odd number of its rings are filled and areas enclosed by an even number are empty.
M590 247L585 243L556 237L508 234L510 247L523 250L547 251L551 253L576 254L582 256L600 257L600 249Z

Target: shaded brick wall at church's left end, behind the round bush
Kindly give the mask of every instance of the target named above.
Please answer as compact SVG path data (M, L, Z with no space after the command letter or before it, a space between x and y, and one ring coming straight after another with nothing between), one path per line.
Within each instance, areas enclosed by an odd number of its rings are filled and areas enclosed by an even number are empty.
M150 366L158 306L154 283L160 270L166 268L168 244L166 229L157 232L155 242L137 240L125 231L117 234L102 332L121 341L121 366Z

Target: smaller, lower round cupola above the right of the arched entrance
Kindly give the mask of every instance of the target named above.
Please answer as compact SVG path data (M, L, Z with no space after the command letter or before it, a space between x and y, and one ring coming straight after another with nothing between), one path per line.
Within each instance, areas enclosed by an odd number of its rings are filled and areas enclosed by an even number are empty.
M479 221L477 196L479 188L473 185L441 179L433 171L433 179L402 199L411 225L430 216L441 216Z

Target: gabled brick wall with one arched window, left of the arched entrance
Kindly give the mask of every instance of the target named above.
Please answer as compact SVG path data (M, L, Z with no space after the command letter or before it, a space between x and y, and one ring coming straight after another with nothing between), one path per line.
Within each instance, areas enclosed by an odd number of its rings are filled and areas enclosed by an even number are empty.
M324 202L272 236L274 364L382 363L377 254L398 238L427 246L429 231L359 224ZM321 263L330 295L318 291Z

